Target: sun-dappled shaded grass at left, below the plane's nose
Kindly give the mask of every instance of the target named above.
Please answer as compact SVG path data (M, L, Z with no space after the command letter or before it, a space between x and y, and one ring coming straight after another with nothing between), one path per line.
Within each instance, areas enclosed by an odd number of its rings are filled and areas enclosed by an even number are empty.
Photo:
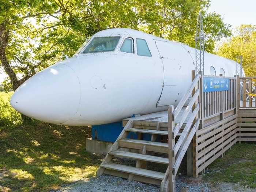
M0 127L0 191L48 191L95 176L102 155L86 152L87 127Z

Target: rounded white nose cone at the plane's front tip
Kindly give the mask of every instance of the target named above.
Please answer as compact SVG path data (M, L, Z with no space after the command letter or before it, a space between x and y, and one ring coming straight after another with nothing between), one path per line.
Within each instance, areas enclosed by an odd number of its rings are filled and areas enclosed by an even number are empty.
M56 64L24 82L12 95L10 104L26 116L61 124L78 111L80 90L74 69Z

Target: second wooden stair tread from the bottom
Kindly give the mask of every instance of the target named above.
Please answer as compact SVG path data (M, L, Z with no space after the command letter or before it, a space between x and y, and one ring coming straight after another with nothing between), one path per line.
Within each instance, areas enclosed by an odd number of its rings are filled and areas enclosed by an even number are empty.
M116 157L130 158L130 159L143 160L143 161L149 161L149 162L155 162L155 163L163 163L167 165L169 163L169 159L167 158L155 157L152 155L143 155L139 153L130 153L130 152L120 151L120 150L112 151L109 154L114 155Z

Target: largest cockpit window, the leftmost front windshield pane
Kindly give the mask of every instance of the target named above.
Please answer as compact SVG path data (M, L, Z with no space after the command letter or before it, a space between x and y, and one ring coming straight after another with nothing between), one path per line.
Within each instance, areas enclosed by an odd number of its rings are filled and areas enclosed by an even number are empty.
M86 46L83 53L97 53L113 51L120 37L94 37L93 40Z

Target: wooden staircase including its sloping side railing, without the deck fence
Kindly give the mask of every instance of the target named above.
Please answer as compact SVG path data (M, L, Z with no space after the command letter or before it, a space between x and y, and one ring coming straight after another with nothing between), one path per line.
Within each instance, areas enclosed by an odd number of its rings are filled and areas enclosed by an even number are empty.
M175 109L174 106L169 106L167 123L129 120L101 163L97 170L97 176L103 173L110 174L127 178L129 181L136 180L160 185L161 192L175 192L175 176L192 140L194 140L193 144L195 143L195 133L200 124L198 101L202 94L202 89L200 89L202 86L199 84L202 85L202 79L199 79L199 75L195 75L195 71L192 71L191 87ZM189 99L190 97L191 99ZM181 109L187 101L189 103L181 114ZM174 119L179 115L181 116L180 120L175 124ZM187 118L188 121L183 126ZM127 138L129 132L136 132L138 135L149 133L151 140L141 140L140 136L138 139L129 139ZM162 135L161 142L157 140L158 135ZM167 138L169 138L168 141ZM193 167L192 174L194 174L196 173L193 163L195 159L192 150L190 154L192 154L192 165L189 166ZM127 166L114 163L116 157L133 159L136 161L136 165ZM147 162L159 163L159 168L166 167L165 172L148 170Z

